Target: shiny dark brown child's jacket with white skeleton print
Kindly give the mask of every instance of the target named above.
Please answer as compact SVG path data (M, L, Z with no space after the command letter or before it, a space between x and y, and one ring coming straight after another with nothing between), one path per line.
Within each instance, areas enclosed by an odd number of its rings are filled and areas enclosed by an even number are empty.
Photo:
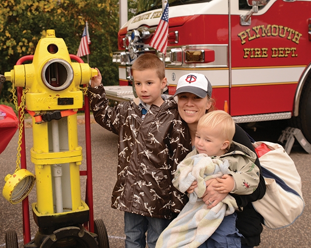
M172 184L177 165L191 150L187 125L173 98L152 105L141 119L133 102L108 106L102 85L89 88L98 124L119 135L117 182L112 208L157 218L172 218L188 201Z

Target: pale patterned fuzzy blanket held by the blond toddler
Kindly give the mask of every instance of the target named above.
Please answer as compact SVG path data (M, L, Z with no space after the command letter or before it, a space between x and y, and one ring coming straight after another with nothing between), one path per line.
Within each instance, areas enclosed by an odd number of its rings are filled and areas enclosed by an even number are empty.
M205 193L205 181L229 173L229 163L197 154L184 159L177 167L173 184L185 192L196 180L198 186L189 195L189 202L160 235L156 248L197 248L215 232L224 216L237 209L233 197L227 195L212 209L201 197Z

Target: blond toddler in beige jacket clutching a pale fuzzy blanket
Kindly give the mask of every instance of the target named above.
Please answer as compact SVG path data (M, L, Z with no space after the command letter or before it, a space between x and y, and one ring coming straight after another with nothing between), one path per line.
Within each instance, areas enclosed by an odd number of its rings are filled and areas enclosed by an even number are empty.
M208 209L198 198L205 193L205 181L212 178L218 180L213 186L220 193L246 195L257 188L259 169L254 164L256 154L246 146L233 142L234 132L233 119L222 110L209 112L200 118L195 150L178 165L173 179L174 186L181 192L191 193L189 203L161 234L157 248L210 248L214 244L225 243L222 240L226 239L218 227L224 216L237 209L234 198L227 195L212 209ZM194 180L197 187L189 190ZM209 203L211 205L213 201L209 200ZM235 230L235 221L230 223L234 226L227 228ZM213 242L209 243L208 239L213 234ZM215 239L217 242L214 242ZM235 245L241 247L240 239L236 239Z

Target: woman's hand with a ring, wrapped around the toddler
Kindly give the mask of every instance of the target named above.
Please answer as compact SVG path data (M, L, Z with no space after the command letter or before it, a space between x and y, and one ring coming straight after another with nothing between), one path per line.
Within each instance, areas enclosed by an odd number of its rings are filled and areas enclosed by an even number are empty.
M214 189L213 184L218 183L218 181L214 179L210 179L205 182L206 183L206 191L203 195L203 201L207 205L208 209L215 207L218 203L220 203L228 193L219 193Z

